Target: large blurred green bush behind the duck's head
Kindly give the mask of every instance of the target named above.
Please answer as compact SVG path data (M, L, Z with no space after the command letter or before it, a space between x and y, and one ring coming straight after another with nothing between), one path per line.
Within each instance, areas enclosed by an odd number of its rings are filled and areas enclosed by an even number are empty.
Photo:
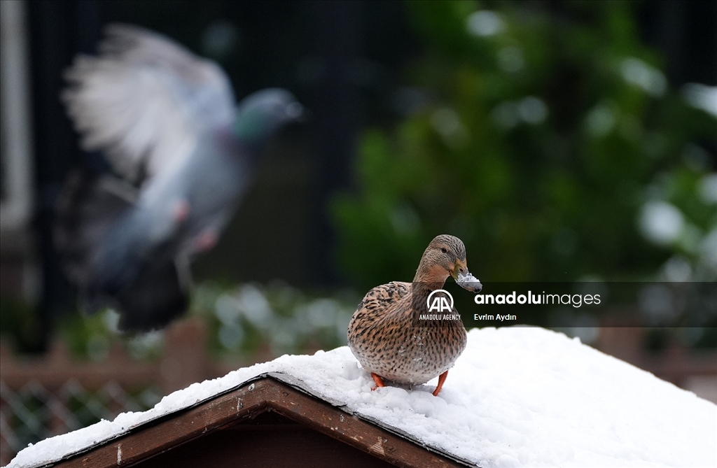
M404 75L405 115L366 131L359 190L333 204L356 284L410 280L442 233L481 280L636 280L670 258L717 277L699 145L717 120L668 87L632 3L542 5L407 4L425 52ZM665 206L678 219L655 238Z

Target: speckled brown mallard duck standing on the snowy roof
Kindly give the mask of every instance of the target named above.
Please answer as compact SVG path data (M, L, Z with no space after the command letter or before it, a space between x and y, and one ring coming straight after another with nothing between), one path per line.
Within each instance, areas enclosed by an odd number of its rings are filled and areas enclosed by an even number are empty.
M465 327L460 317L419 323L417 312L426 312L429 295L442 289L449 275L466 290L482 288L468 272L463 242L442 234L423 252L412 283L374 287L353 312L348 348L371 373L372 390L385 386L384 380L414 386L439 376L433 395L440 393L448 369L465 349Z

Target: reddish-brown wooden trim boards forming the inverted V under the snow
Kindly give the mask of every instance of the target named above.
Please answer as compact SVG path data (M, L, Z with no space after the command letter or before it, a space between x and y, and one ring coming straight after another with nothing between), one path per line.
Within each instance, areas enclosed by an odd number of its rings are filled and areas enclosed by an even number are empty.
M157 454L264 411L276 411L399 467L463 466L272 378L249 383L195 408L168 415L56 466L109 468L144 465L144 461L151 466L149 459ZM206 466L212 466L212 453L206 457Z

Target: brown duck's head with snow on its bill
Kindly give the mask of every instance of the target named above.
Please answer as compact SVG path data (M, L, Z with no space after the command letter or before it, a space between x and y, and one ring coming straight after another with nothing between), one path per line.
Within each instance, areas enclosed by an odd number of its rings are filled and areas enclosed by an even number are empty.
M416 276L440 281L451 276L465 290L480 292L483 289L480 281L468 272L465 245L460 239L449 234L436 236L428 244Z

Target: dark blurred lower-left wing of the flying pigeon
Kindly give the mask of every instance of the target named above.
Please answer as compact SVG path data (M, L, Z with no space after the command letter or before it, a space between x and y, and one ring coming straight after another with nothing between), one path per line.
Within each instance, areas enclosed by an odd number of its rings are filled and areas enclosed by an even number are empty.
M67 278L80 290L93 276L93 264L108 231L136 199L132 186L87 169L70 173L57 202L54 243Z

